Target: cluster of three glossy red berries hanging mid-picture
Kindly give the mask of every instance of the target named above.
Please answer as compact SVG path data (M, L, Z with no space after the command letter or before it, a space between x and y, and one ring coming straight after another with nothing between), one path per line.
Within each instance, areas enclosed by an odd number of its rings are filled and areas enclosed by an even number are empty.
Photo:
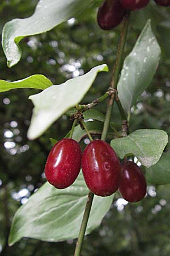
M110 196L119 188L122 197L137 202L146 195L146 180L133 162L120 164L116 152L104 141L92 141L83 154L74 139L62 139L49 153L45 176L56 188L67 188L82 172L87 187L98 196Z

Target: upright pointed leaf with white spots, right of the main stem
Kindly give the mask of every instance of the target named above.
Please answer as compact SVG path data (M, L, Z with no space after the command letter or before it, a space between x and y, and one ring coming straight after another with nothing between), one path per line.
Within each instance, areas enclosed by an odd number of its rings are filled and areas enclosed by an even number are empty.
M154 77L160 59L160 47L148 20L133 51L126 57L118 81L118 97L128 114Z

